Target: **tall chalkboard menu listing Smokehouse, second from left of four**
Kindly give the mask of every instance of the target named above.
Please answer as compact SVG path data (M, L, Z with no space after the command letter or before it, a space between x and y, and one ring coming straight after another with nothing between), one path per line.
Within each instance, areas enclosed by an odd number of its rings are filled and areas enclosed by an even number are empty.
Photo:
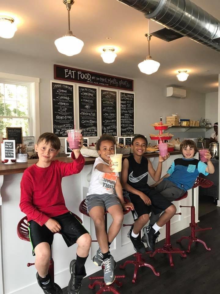
M78 87L79 97L79 129L82 136L97 137L97 89Z

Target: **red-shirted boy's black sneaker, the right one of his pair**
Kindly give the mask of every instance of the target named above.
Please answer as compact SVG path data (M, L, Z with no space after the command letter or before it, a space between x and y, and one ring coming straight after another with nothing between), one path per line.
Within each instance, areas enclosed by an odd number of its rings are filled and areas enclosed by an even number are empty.
M76 259L73 259L70 262L70 274L71 278L68 284L68 294L79 294L80 288L82 286L82 279L86 276L85 275L76 275L75 273L75 263Z

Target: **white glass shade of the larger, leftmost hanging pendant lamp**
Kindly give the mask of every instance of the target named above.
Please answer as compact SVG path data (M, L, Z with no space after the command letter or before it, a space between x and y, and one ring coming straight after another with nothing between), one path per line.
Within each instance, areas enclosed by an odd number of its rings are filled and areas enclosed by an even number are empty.
M82 40L76 38L75 36L63 36L55 40L54 44L60 53L67 56L79 54L84 45Z

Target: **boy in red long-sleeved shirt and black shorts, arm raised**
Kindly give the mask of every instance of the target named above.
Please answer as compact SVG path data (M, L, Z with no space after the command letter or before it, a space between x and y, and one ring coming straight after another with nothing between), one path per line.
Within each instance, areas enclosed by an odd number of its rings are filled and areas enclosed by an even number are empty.
M29 236L36 256L37 280L45 294L62 294L59 285L51 281L49 269L53 234L60 232L70 247L77 243L76 260L70 262L71 278L68 294L78 294L82 278L86 276L85 262L91 246L91 237L82 224L66 208L61 188L62 177L79 173L85 160L80 149L73 149L71 163L53 158L60 150L60 140L53 133L42 134L35 151L39 161L24 171L21 179L20 209L28 217Z

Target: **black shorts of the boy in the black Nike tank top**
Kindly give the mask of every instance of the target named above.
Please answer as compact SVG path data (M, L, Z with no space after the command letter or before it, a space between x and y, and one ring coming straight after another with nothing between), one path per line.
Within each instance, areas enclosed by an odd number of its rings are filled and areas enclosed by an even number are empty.
M151 210L154 212L154 214L161 213L172 205L169 200L167 200L160 193L156 192L154 189L144 191L143 193L145 193L150 198L151 205L146 205L140 196L129 193L130 200L134 204L134 210L137 213L138 217L143 214L149 214ZM133 210L132 213L134 216Z

